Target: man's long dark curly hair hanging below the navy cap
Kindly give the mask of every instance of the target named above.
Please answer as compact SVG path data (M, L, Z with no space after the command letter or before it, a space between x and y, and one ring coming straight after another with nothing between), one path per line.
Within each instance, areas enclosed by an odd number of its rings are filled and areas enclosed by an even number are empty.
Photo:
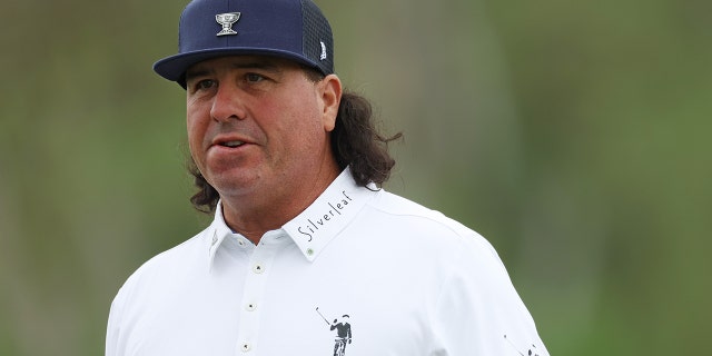
M307 71L310 79L317 79L310 75ZM403 135L398 132L384 137L378 134L373 120L373 108L366 98L344 92L330 135L332 151L339 169L344 170L349 166L358 186L365 187L369 182L380 186L388 180L390 169L396 164L388 155L388 142ZM195 186L198 188L198 192L190 198L194 207L202 212L214 212L220 198L218 191L202 177L194 161L190 161L188 170L195 177Z

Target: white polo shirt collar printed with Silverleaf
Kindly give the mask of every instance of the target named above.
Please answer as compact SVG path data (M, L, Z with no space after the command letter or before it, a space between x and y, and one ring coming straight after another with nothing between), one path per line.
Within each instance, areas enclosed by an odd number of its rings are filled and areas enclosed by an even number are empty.
M346 168L309 207L285 224L281 230L291 238L307 260L314 261L377 192L378 188L374 184L367 187L356 185L350 169ZM207 233L209 261L212 265L218 247L233 234L222 217L220 202Z

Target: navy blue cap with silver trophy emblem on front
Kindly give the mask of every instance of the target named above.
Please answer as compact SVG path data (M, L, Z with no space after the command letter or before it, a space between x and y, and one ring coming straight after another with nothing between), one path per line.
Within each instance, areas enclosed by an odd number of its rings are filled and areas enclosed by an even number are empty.
M185 86L190 66L235 55L283 57L330 75L332 27L310 0L194 0L180 17L178 55L154 70Z

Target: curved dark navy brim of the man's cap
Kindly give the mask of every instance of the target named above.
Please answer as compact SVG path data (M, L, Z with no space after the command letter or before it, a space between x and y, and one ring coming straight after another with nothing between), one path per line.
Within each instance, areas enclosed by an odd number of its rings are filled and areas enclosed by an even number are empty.
M156 63L154 63L154 71L159 76L177 81L185 87L186 70L191 66L199 63L204 60L225 57L225 56L275 56L285 59L291 59L308 67L314 67L318 71L323 71L317 63L313 62L306 57L298 56L294 52L267 49L267 48L212 48L199 51L192 51L188 53L179 53L170 57L166 57ZM326 75L326 73L324 73Z

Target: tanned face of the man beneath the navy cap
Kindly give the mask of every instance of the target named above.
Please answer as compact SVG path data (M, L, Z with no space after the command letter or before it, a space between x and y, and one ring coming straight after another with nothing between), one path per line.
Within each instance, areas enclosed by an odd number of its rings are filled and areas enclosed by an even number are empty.
M296 194L333 169L329 80L288 60L235 56L192 66L186 85L190 152L221 198ZM336 109L339 98L340 85Z

